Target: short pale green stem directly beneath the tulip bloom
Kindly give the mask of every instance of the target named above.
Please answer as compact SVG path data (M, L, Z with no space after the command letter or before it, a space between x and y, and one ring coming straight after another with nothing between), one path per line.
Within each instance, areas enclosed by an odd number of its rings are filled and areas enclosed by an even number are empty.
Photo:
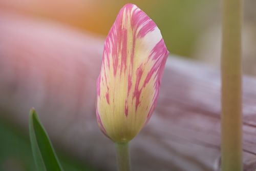
M116 143L116 159L118 171L130 171L130 155L128 143Z

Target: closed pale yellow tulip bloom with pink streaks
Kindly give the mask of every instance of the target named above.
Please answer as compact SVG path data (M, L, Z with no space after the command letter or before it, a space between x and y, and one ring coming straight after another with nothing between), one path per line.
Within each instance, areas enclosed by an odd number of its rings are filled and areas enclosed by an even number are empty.
M168 53L157 25L126 4L106 37L97 80L97 121L112 141L132 140L150 119Z

